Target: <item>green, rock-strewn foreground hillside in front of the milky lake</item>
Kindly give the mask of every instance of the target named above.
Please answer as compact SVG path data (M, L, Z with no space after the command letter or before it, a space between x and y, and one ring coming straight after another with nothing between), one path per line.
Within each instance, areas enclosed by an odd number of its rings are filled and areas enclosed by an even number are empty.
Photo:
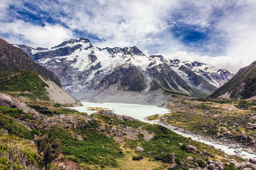
M72 110L70 113L60 114L59 109L54 110L56 114L50 116L40 111L39 114L25 116L20 113L13 115L11 114L15 112L13 110L4 112L4 119L1 121L8 122L8 119L12 121L5 126L2 126L3 123L0 124L0 128L4 128L9 133L6 135L0 131L0 146L3 151L0 152L0 156L6 159L5 164L1 164L0 168L18 165L22 167L20 169L25 169L26 166L34 164L39 166L38 169L43 169L39 161L43 159L37 156L39 154L35 146L37 143L24 139L36 141L45 134L52 137L52 140L60 141L59 149L63 155L52 163L62 169L64 167L69 170L70 166L76 165L76 169L80 169L80 166L85 170L185 170L196 167L203 169L207 162L212 162L214 167L216 164L218 169L223 170L223 164L230 161L242 167L242 163L238 163L240 159L227 156L207 144L182 137L161 125L140 122L132 117L116 115L110 111L98 111L86 115L79 112L72 113ZM0 112L2 111L4 110L0 107ZM15 130L11 128L12 124L15 125ZM35 129L29 131L21 127L24 125L33 126ZM24 130L24 134L18 133L21 130ZM4 142L8 142L8 145L4 145ZM17 159L15 162L10 162L11 155L4 153L14 154L16 150L18 155L26 154L25 160L33 156L33 160L37 161L22 162ZM27 153L32 156L27 157ZM72 162L68 162L67 159ZM255 167L252 163L246 163L246 166Z

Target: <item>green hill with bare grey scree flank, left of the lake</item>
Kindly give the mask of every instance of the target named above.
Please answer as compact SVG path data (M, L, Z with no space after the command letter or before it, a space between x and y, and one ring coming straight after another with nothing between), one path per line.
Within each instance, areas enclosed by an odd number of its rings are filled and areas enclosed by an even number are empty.
M0 72L0 92L31 101L52 101L61 105L79 105L79 101L51 80L32 70Z

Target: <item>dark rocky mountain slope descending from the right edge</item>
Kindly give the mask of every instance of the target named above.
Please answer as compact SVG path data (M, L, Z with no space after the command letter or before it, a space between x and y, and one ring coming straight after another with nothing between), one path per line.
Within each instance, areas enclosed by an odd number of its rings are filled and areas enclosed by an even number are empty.
M240 69L236 75L209 98L256 99L256 61Z

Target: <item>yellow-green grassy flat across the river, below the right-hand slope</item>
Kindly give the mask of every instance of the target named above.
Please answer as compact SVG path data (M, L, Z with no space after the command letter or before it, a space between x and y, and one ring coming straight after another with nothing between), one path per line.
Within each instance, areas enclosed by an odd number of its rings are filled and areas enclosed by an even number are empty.
M166 124L181 127L189 131L200 132L209 137L216 136L217 133L223 134L228 130L236 136L239 136L241 131L245 131L248 135L255 137L255 133L245 126L249 122L246 117L252 114L253 110L239 110L232 106L239 106L239 103L241 105L241 100L198 100L180 100L176 103L169 103L168 107L172 109L172 113L163 116L153 115L148 118L150 120L163 118L163 122ZM232 103L232 105L226 103ZM253 105L253 101L250 101L249 104L246 102L246 105ZM229 129L235 123L239 127ZM220 131L218 131L217 126L220 127ZM228 128L228 130L223 130L223 128ZM234 139L240 142L239 137Z

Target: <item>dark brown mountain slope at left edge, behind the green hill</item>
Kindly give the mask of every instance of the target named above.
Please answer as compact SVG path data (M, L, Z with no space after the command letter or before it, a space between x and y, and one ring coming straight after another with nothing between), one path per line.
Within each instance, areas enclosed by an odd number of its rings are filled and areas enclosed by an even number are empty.
M24 51L0 38L0 71L16 69L36 71L61 87L60 80L54 73L35 63Z

